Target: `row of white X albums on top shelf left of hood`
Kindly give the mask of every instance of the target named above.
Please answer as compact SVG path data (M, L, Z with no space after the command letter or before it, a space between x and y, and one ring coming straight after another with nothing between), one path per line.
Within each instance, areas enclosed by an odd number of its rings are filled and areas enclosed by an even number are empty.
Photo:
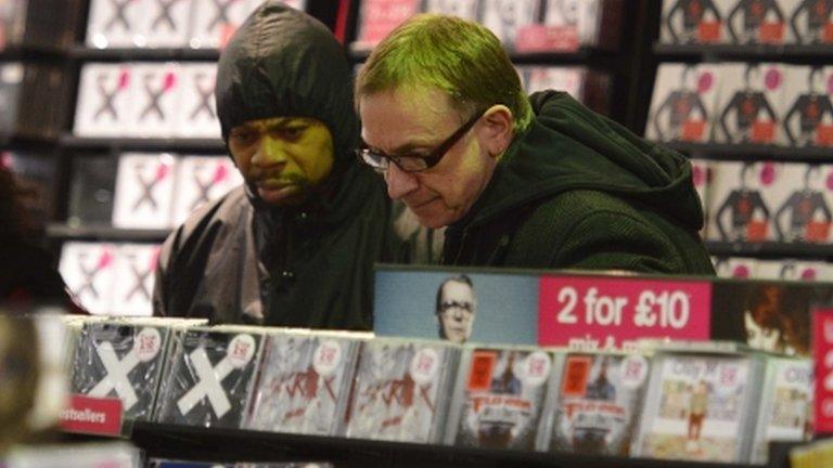
M91 0L88 47L218 49L264 0ZM283 0L304 10L305 0Z

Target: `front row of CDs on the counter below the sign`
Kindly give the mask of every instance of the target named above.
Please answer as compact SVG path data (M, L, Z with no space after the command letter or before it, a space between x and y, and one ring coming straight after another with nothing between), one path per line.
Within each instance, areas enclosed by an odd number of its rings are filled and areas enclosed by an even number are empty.
M72 391L205 428L764 463L811 431L811 363L729 342L630 352L71 318Z

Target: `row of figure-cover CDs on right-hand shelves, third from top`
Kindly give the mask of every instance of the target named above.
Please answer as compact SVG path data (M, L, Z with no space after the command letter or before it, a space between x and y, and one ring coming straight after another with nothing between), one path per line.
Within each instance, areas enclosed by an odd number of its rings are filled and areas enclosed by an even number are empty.
M833 165L692 159L717 242L831 243Z

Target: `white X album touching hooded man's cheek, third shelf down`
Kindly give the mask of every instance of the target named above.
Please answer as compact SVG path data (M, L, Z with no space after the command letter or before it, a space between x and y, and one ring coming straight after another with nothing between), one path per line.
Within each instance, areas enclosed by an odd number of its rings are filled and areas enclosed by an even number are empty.
M243 177L226 155L179 158L172 225L180 225L203 204L219 199L242 184Z

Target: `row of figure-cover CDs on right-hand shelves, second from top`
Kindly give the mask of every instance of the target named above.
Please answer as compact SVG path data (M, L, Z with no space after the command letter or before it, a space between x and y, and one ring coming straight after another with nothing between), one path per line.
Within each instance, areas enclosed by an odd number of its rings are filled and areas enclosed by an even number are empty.
M659 65L645 135L656 141L833 146L833 66Z

